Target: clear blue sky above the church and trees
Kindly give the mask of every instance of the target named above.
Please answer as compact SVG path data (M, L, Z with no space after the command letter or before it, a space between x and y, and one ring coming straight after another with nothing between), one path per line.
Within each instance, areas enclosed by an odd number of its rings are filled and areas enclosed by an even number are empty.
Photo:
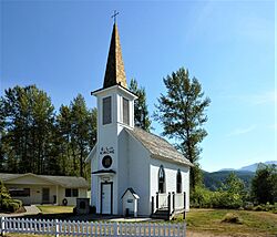
M0 3L1 95L37 84L55 109L102 86L117 10L127 81L152 114L163 78L188 69L212 104L202 143L206 171L276 158L274 1L7 1ZM162 132L153 123L155 133Z

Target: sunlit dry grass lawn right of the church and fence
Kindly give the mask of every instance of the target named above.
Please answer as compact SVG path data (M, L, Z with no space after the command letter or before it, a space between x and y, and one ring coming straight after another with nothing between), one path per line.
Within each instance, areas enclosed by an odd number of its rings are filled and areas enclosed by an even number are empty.
M222 223L227 213L238 215L243 224ZM277 214L266 212L191 209L186 221L188 233L203 236L277 236Z

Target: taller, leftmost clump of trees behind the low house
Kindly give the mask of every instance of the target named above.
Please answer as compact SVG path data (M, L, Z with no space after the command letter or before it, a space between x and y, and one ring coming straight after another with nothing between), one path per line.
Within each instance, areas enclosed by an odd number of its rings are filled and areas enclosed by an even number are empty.
M35 85L4 91L2 116L8 172L45 173L51 153L54 107L45 92Z

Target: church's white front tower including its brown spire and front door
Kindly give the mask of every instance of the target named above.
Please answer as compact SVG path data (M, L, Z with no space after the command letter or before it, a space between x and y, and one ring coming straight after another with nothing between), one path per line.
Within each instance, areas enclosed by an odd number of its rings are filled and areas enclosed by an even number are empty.
M119 214L119 202L114 198L119 196L119 136L124 127L134 127L136 95L127 90L116 23L113 24L103 87L91 94L98 100L96 162L92 164L96 212Z

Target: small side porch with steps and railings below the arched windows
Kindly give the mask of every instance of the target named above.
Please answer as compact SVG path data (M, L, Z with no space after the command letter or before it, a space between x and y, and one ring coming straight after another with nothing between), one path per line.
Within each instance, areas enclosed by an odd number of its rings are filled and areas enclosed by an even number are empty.
M171 220L175 215L186 213L186 193L156 193L152 196L151 217Z

